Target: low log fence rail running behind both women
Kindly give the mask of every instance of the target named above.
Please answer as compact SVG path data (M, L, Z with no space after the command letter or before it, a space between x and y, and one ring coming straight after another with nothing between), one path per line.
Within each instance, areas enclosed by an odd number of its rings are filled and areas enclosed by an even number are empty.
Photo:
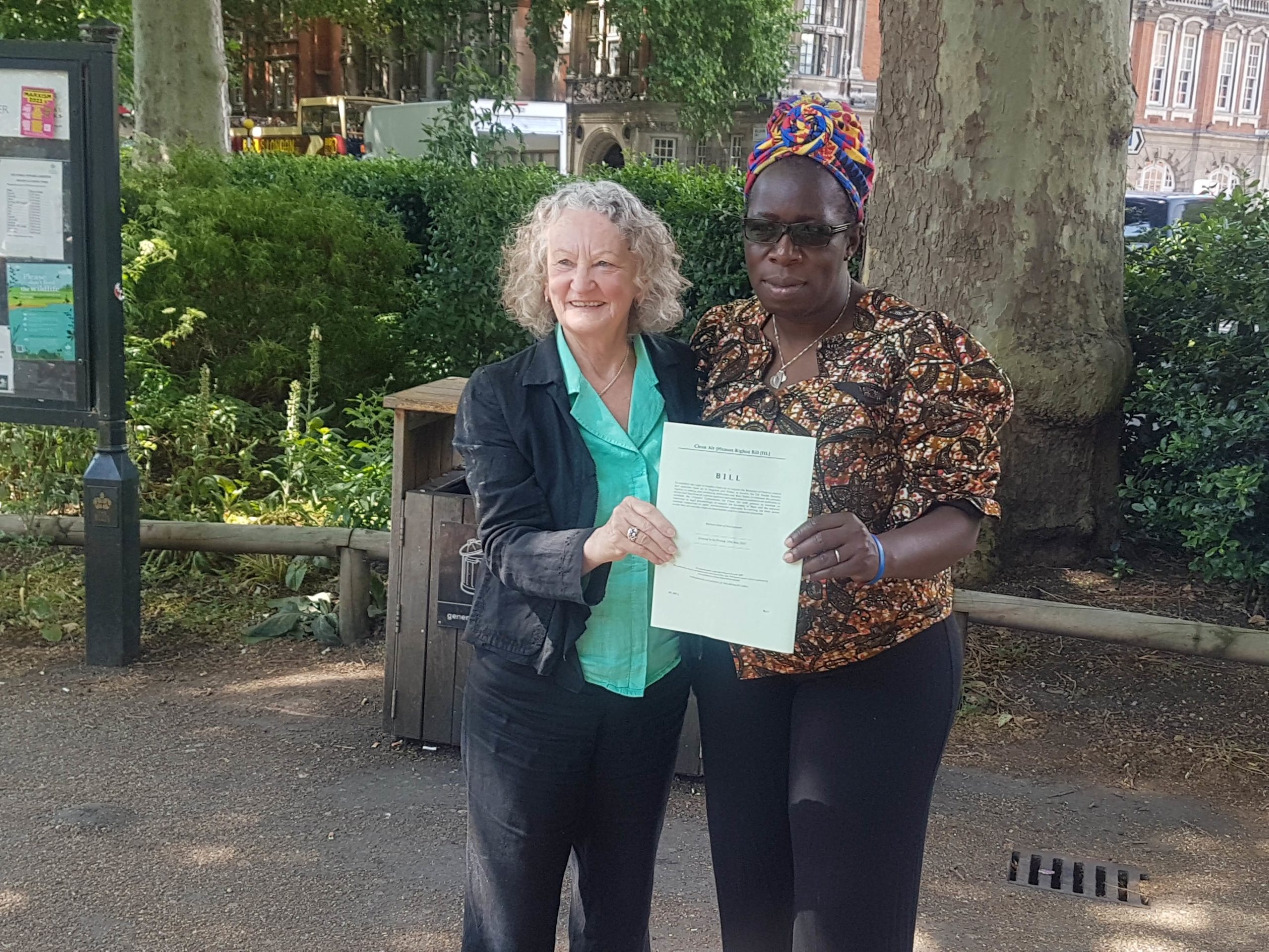
M38 536L55 543L84 545L84 520L58 515L0 515L0 533ZM345 641L365 636L369 604L367 559L386 561L388 533L306 526L242 526L141 520L141 548L183 552L324 555L340 560L340 633ZM1065 635L1133 645L1183 655L1269 665L1269 632L1207 625L1138 612L1044 602L957 589L956 611L975 625ZM345 627L346 626L346 627Z

